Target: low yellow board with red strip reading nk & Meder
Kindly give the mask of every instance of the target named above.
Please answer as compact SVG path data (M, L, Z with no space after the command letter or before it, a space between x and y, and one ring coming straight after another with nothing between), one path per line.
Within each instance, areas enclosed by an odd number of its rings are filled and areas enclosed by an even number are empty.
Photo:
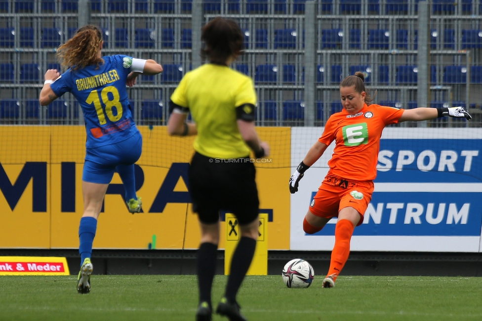
M0 256L0 275L70 275L65 257Z

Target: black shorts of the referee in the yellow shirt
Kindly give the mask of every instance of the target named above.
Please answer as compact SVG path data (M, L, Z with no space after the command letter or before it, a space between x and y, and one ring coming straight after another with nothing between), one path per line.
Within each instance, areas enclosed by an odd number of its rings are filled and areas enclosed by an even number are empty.
M216 161L218 160L218 161ZM204 224L219 220L219 211L236 215L240 225L258 217L256 168L249 158L221 162L195 153L189 171L193 210Z

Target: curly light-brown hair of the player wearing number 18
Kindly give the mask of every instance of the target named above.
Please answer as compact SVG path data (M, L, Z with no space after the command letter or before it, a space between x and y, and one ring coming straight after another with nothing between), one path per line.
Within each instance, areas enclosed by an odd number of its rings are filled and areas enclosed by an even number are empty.
M102 42L100 29L93 25L81 27L77 33L57 49L57 57L64 68L73 71L91 65L103 63L97 57L99 46Z

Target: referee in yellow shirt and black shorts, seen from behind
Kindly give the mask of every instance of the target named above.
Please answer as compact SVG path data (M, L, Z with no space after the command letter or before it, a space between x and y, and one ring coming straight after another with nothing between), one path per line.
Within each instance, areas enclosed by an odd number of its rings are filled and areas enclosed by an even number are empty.
M233 254L231 274L216 313L246 320L236 295L251 264L258 239L259 200L254 164L269 155L254 127L256 92L252 80L229 68L240 55L243 36L236 22L217 17L202 28L201 55L209 63L187 73L171 96L167 131L198 135L189 186L201 225L197 257L200 302L196 320L211 320L211 287L219 244L219 211L236 215L241 240ZM186 123L191 112L194 123Z

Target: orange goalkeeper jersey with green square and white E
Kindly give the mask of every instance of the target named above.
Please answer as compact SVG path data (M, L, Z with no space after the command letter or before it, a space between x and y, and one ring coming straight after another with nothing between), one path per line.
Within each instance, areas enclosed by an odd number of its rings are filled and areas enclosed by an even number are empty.
M345 109L331 115L318 140L326 145L335 141L330 172L356 181L374 180L382 130L398 123L402 114L403 109L365 104L355 115Z

